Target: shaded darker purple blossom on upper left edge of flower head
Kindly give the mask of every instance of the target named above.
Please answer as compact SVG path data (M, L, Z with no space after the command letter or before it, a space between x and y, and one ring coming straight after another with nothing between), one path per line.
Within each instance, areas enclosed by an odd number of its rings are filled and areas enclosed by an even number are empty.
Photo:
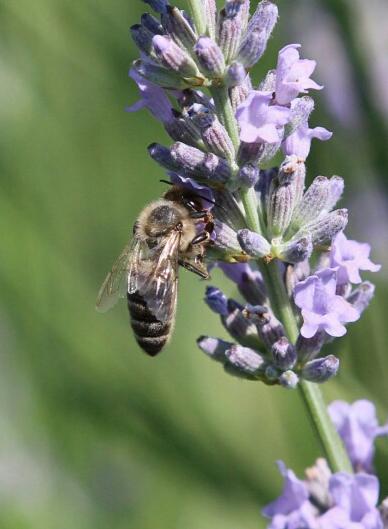
M171 110L171 103L163 88L147 81L134 68L129 70L129 76L137 84L141 99L127 107L127 112L136 112L142 108L147 108L157 120L164 124L170 123L174 116Z

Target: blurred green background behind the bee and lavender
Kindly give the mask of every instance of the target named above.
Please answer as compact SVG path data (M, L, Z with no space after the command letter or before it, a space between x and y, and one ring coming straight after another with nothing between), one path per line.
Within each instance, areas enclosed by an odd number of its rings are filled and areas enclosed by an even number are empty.
M256 2L252 2L256 4ZM341 174L348 231L384 265L362 321L333 348L328 400L372 398L388 415L386 342L388 43L385 0L279 0L257 77L280 46L319 60L310 178ZM373 6L373 7L372 7ZM167 142L137 90L128 28L140 0L0 0L0 526L62 529L265 527L275 461L317 457L296 392L224 375L195 346L224 336L204 284L181 274L176 332L138 349L125 303L95 312L99 285L142 206L164 187L146 146ZM219 285L223 278L214 275ZM388 443L378 442L388 494Z

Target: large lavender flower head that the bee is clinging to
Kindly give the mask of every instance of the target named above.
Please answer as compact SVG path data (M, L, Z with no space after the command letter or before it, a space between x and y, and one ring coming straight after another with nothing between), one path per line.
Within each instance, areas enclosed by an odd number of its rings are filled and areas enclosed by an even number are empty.
M226 0L220 12L215 0L203 0L201 28L167 0L146 3L156 16L146 13L131 28L141 58L130 76L141 101L128 110L146 107L175 142L153 143L149 154L172 182L208 201L215 227L206 257L243 298L207 288L206 303L233 342L201 337L198 345L245 379L287 388L300 379L324 382L339 360L322 347L360 317L374 292L360 271L379 266L368 244L343 233L348 212L334 209L343 179L317 176L305 189L311 141L332 135L308 124L314 101L306 94L323 88L311 79L315 61L300 58L299 44L285 46L254 87L248 72L276 23L274 3L262 0L250 16L249 0ZM264 168L280 153L279 167ZM270 266L298 322L296 341L273 306Z

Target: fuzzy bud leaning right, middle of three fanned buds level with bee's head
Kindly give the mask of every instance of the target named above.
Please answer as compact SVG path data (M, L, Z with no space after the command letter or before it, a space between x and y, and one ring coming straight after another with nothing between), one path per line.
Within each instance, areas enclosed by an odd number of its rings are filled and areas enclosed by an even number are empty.
M299 206L295 209L292 225L299 228L319 217L330 195L330 180L325 176L314 178Z

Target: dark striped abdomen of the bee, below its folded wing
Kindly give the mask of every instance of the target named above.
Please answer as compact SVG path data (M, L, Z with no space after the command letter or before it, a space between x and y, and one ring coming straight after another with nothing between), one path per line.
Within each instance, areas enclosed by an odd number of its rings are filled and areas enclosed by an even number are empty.
M127 298L131 326L137 343L148 355L157 355L170 337L170 323L155 318L148 309L147 303L137 292L128 294Z

